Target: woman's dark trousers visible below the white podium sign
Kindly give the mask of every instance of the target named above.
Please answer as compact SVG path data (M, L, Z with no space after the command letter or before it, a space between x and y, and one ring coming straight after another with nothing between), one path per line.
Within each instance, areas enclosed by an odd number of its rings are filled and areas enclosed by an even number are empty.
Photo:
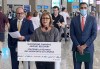
M35 62L37 69L55 69L54 62Z

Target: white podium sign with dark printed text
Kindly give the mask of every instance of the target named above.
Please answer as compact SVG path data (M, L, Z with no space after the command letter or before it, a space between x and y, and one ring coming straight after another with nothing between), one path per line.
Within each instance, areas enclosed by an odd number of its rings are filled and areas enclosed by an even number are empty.
M61 62L61 43L18 42L18 61Z

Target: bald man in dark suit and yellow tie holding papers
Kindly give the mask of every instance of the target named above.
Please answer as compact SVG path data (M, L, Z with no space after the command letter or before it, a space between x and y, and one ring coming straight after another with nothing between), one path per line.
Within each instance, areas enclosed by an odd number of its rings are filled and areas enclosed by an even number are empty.
M10 22L9 32L19 31L21 36L18 38L12 38L8 35L8 46L11 52L12 69L19 69L19 62L17 61L17 42L18 41L29 41L30 35L33 33L34 28L32 21L25 18L24 9L18 7L16 9L17 18Z

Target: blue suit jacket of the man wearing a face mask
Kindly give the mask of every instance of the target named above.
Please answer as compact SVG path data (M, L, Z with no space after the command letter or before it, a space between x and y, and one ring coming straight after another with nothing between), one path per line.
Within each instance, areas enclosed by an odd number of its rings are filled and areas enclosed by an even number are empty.
M93 16L87 15L84 30L81 30L80 15L72 18L70 36L73 42L72 51L77 51L78 45L86 44L88 51L94 50L93 41L97 36L97 23Z

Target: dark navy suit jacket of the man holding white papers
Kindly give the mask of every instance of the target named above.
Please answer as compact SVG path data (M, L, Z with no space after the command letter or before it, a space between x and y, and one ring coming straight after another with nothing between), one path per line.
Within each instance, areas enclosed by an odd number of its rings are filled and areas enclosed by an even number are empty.
M15 31L18 31L18 29L17 29L17 19L14 19L10 22L9 32L15 32ZM34 28L33 28L33 25L32 25L32 21L24 18L23 21L22 21L21 29L20 29L20 34L25 37L24 41L29 41L30 35L33 33L33 31L34 31ZM19 41L18 39L12 38L8 34L8 46L9 47L17 47L18 41Z

